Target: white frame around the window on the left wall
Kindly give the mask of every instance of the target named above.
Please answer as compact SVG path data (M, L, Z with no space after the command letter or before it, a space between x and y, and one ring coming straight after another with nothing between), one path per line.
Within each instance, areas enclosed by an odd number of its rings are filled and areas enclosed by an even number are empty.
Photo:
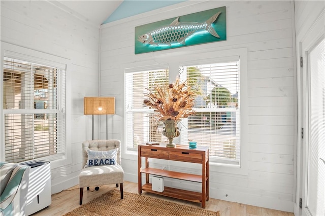
M13 59L20 59L20 60L25 60L28 62L33 62L33 63L38 63L38 64L43 64L43 65L51 65L54 67L60 67L60 68L66 68L66 81L65 81L65 88L66 88L66 100L65 100L65 107L60 107L62 112L64 113L63 115L63 121L65 121L66 124L66 139L63 140L63 151L62 153L59 154L54 154L50 156L45 156L41 158L37 158L40 160L46 160L51 162L51 168L57 168L62 165L67 165L71 164L72 159L71 159L71 135L68 133L68 129L71 128L71 121L69 116L71 116L71 111L70 109L67 109L67 107L71 107L71 85L67 85L69 82L71 82L71 76L69 75L70 71L70 66L71 62L69 59L62 58L59 56L54 56L51 54L43 53L40 51L20 47L17 45L12 45L8 44L5 42L1 42L1 74L0 76L2 77L0 83L1 86L3 86L3 72L4 72L4 57L9 57ZM3 88L0 88L0 101L3 101ZM14 112L6 112L3 109L3 106L1 106L0 109L0 133L1 133L1 143L5 143L5 134L4 134L4 128L5 128L5 119L4 119L4 114L5 113L15 113ZM1 160L4 161L5 157L5 145L0 146L1 149L1 154L0 158ZM31 159L31 160L36 160L36 159ZM30 160L28 160L30 161Z

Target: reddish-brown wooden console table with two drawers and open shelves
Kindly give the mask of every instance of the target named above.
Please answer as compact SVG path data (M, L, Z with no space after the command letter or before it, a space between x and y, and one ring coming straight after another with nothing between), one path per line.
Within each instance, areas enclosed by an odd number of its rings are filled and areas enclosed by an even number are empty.
M145 157L145 168L141 167L141 157ZM200 163L202 164L202 174L196 175L150 168L148 158ZM146 175L146 184L144 185L142 185L142 173L145 173ZM202 192L187 191L170 187L165 187L163 192L153 191L152 185L149 183L149 174L202 183ZM179 145L177 145L176 148L166 148L166 145L138 146L138 187L139 194L141 194L142 191L147 191L177 199L201 202L202 208L205 208L205 201L209 200L209 148L198 147L197 149L189 149L188 146Z

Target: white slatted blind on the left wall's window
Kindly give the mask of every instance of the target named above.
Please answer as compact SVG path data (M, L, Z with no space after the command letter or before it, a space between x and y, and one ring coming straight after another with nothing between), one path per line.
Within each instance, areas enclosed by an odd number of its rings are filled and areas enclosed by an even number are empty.
M3 81L6 161L62 153L65 68L4 57Z

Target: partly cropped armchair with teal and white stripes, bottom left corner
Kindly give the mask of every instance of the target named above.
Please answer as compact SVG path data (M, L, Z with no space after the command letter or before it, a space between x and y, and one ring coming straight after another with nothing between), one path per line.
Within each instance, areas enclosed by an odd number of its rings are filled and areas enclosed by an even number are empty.
M0 215L25 215L29 166L0 162Z

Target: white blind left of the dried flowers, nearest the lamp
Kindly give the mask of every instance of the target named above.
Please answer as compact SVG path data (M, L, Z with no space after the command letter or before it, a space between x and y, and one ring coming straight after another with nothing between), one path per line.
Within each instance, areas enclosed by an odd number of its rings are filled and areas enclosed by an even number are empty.
M126 150L137 151L148 141L161 142L162 125L153 117L153 109L143 105L144 95L155 85L168 85L168 68L129 72L125 74Z

